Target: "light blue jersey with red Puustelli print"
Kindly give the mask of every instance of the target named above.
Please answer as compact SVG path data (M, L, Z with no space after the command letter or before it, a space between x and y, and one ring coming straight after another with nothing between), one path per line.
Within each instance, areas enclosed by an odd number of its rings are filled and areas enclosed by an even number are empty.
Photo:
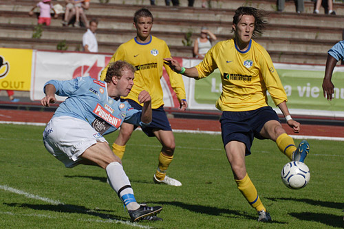
M127 101L114 100L107 95L107 83L104 81L87 76L73 80L50 80L47 84L55 86L56 95L68 97L56 109L53 118L70 116L85 120L102 135L116 131L122 122L146 125L141 122L141 111L133 109Z

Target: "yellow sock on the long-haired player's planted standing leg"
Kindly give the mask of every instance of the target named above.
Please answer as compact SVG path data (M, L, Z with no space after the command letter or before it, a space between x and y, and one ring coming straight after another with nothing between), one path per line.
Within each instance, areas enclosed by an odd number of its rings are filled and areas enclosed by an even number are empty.
M251 182L250 177L248 177L247 173L244 179L235 179L235 182L237 182L237 188L240 190L241 194L244 195L244 197L248 201L248 204L250 204L252 208L255 208L257 211L266 211L263 203L261 203L261 200L258 196L257 189Z

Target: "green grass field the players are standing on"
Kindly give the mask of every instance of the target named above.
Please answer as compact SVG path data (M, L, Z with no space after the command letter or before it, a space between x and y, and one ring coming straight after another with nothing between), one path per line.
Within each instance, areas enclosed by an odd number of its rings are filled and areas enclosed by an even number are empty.
M343 228L344 142L310 140L308 186L281 182L288 162L270 140L255 140L248 174L272 216L241 196L220 135L175 133L168 175L181 187L153 184L160 144L135 131L123 159L136 199L161 205L164 221L130 223L120 199L95 166L65 168L47 153L44 127L0 124L0 228ZM107 135L113 142L116 133ZM296 140L299 142L299 140Z

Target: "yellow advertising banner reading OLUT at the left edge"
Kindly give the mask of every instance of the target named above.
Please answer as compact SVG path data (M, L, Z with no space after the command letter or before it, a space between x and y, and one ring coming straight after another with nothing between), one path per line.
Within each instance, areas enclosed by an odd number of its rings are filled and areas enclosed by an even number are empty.
M30 91L32 50L0 47L0 89Z

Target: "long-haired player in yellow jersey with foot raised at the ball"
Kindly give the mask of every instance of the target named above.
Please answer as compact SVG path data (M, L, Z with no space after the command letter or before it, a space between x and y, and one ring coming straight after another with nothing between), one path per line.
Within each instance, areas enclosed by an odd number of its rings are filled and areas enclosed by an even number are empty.
M253 138L275 141L290 160L300 162L305 160L310 149L305 140L295 146L281 126L277 113L268 106L267 91L288 125L294 132L300 131L299 122L290 116L286 92L268 52L252 40L253 35L263 31L264 17L265 13L255 8L238 8L233 17L234 38L217 43L195 67L180 67L178 61L165 58L171 69L190 78L205 78L217 68L221 72L222 94L216 107L223 111L220 119L222 141L237 187L257 210L258 221L270 221L271 217L246 173L245 156L250 155Z

